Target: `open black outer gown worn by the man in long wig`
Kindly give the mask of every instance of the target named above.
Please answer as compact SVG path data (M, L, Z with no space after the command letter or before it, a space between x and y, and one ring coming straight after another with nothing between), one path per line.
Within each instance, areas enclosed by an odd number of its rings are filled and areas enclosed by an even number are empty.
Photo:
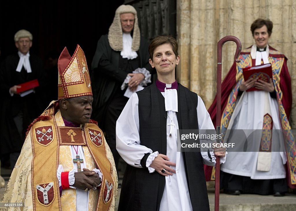
M143 37L141 37L140 48L137 53L140 60L139 67L146 68L153 74L155 69L152 69L149 64L148 42ZM99 65L101 59L104 60L102 66ZM104 122L109 99L115 95L115 92L127 76L127 72L120 66L120 51L114 51L110 47L108 34L102 35L97 43L91 69L91 87L95 96L92 119L96 120L99 127L104 130L105 125L102 125L102 123Z

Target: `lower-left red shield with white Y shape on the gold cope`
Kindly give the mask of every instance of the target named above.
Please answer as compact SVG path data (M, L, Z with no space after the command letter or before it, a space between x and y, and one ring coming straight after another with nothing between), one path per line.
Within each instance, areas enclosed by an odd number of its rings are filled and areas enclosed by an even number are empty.
M36 191L38 201L44 206L48 206L54 199L53 182L36 185Z

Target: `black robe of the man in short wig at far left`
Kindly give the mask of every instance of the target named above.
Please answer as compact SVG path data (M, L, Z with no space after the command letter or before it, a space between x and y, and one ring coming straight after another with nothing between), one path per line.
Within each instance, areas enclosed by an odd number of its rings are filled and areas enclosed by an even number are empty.
M29 124L42 113L52 99L46 99L44 89L45 74L43 63L40 57L31 54L31 73L27 73L24 67L21 72L17 72L17 64L20 57L17 53L7 56L0 68L0 92L2 96L1 111L1 153L20 152L25 141L25 132ZM31 93L24 97L20 95L9 95L9 88L33 79L38 79L39 87L35 88L36 93ZM51 90L47 90L51 91ZM14 122L15 116L22 111L23 129L19 134Z

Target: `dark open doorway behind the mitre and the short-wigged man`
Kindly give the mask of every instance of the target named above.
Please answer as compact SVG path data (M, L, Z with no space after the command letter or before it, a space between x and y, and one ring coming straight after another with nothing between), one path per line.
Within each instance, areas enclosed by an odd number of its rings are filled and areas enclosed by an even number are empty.
M108 33L116 1L7 1L0 7L1 59L16 52L13 37L20 29L33 34L31 53L46 61L49 53L61 53L66 46L72 55L79 44L90 66L100 36Z

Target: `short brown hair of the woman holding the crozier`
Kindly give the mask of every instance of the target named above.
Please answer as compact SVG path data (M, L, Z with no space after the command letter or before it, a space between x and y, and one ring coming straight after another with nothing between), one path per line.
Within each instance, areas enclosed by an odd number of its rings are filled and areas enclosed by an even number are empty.
M153 53L155 48L157 48L157 46L163 45L163 44L170 44L172 46L173 52L175 53L175 56L177 57L178 54L178 43L177 40L171 36L158 36L156 38L154 38L148 48L148 52L150 54L150 59L153 59Z

